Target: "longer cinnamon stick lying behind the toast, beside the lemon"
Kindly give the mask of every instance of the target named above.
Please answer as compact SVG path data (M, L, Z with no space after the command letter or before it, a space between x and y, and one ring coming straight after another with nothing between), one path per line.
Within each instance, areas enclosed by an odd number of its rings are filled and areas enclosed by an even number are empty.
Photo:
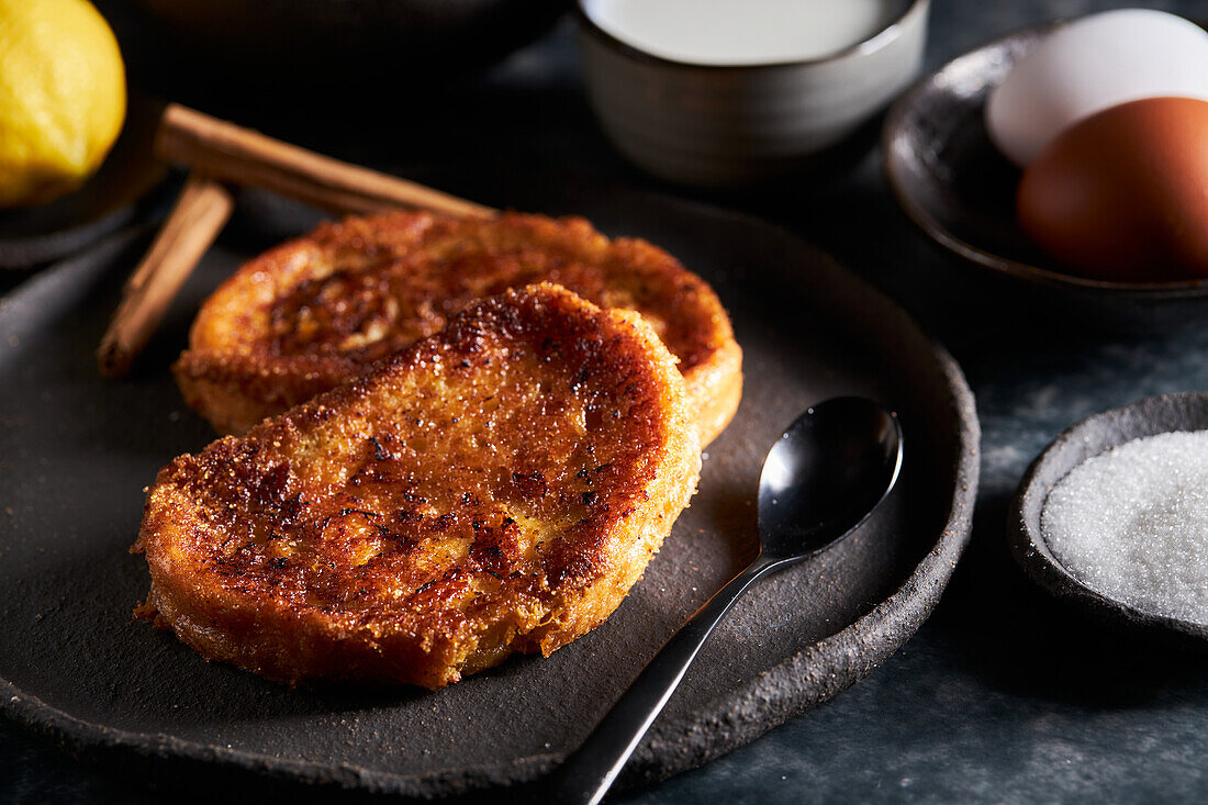
M215 179L263 187L338 214L397 207L461 218L490 218L496 212L413 181L320 156L179 104L164 110L156 151L165 160L204 170Z

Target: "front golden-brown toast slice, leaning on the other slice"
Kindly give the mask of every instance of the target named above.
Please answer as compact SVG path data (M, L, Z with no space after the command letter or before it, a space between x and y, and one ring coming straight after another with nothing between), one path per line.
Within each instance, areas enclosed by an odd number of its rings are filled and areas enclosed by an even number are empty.
M281 682L440 688L603 622L699 468L640 317L507 291L161 470L140 614Z

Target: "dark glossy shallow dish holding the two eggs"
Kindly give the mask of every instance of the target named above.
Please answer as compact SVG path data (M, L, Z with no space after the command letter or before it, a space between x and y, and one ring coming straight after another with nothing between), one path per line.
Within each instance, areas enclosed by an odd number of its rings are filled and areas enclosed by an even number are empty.
M931 239L1021 288L1024 303L1109 330L1195 323L1208 280L1108 283L1062 273L1018 228L1020 170L991 143L983 108L1011 66L1061 25L1045 23L978 47L911 87L885 118L885 174L898 203Z

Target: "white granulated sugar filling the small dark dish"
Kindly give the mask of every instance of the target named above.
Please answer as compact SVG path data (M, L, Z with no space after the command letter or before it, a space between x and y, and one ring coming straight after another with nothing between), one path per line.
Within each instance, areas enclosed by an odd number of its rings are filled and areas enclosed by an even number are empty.
M1093 590L1208 625L1208 430L1087 459L1049 493L1040 526L1053 556Z

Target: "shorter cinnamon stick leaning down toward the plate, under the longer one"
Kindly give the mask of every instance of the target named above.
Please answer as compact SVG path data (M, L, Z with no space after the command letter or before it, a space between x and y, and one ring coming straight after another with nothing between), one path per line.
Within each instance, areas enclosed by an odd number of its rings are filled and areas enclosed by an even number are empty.
M101 375L122 377L129 372L233 209L230 190L197 172L190 174L155 243L122 289L122 301L97 349Z

